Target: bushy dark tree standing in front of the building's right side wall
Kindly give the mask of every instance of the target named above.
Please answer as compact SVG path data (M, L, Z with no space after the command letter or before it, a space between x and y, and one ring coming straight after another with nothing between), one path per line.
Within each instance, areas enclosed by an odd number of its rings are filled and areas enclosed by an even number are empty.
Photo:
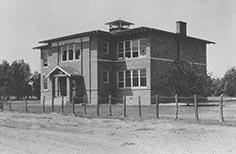
M211 77L205 70L185 61L176 61L168 72L167 83L175 93L181 96L209 93Z

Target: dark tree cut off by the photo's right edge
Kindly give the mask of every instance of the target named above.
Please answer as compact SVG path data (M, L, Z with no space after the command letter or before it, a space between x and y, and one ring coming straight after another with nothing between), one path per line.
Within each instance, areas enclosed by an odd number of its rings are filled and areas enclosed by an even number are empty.
M222 89L228 96L236 96L236 68L229 69L222 78Z

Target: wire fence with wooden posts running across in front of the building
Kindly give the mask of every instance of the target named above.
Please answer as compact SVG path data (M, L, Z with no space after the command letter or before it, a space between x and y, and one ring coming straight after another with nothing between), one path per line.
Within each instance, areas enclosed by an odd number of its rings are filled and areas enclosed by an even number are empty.
M144 105L142 100L143 96L137 96L135 105L130 106L127 104L126 96L123 97L93 97L97 99L97 104L88 104L88 98L72 97L70 103L66 103L64 97L60 102L55 103L55 99L51 97L50 104L46 104L45 96L42 103L39 101L31 101L25 98L21 101L15 101L1 97L0 110L10 112L30 112L30 113L61 113L61 114L74 114L80 116L101 116L111 118L140 118L140 119L195 119L199 120L200 115L209 115L209 107L214 108L214 116L220 122L224 119L224 97L215 98L214 103L209 104L206 97L202 96L159 96L154 95L151 97L152 105ZM226 99L229 101L229 99ZM213 102L213 101L212 101ZM217 115L216 115L217 114ZM203 116L204 117L204 116ZM211 115L210 115L211 117Z

